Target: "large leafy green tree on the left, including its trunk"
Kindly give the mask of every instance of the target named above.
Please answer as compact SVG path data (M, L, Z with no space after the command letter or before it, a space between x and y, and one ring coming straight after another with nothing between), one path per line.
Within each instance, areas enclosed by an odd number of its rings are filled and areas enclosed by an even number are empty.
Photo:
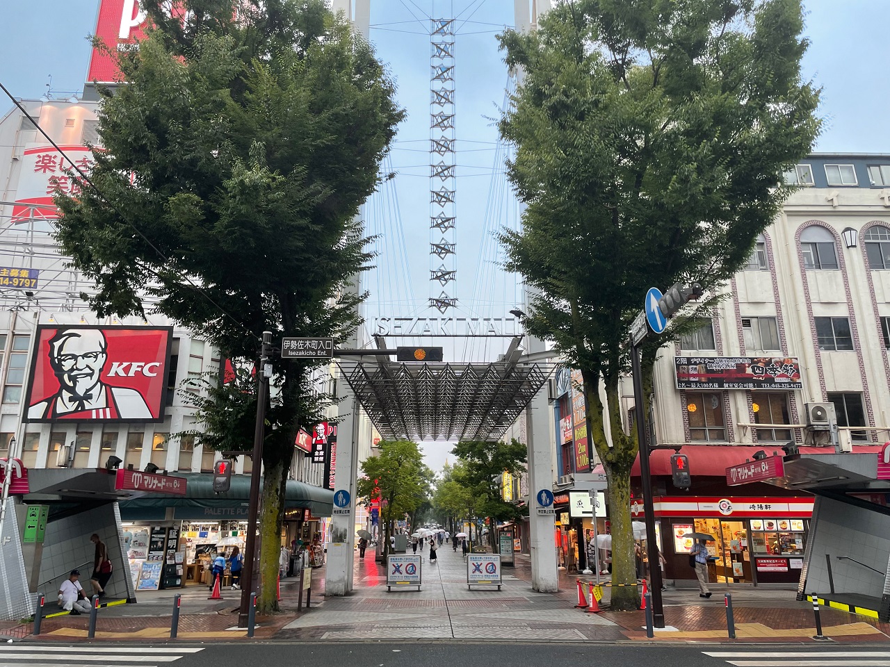
M100 317L149 303L236 362L255 360L266 330L343 341L363 298L348 285L370 260L355 217L403 116L392 81L322 0L184 0L175 18L166 4L141 2L157 28L120 54L126 83L102 92L91 174L101 194L82 184L57 197L61 250L96 283L85 298ZM272 365L263 613L277 608L295 434L328 402L312 391L318 364ZM253 382L208 398L206 442L249 450Z

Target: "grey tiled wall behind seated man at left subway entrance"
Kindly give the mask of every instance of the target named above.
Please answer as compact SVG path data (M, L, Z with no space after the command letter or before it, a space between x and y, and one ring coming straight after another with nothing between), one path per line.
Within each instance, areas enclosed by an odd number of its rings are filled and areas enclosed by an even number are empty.
M95 556L95 545L90 542L90 535L93 533L99 534L109 550L113 567L106 589L109 598L127 597L127 566L126 561L121 558L117 523L115 505L111 502L69 517L50 520L46 526L44 555L40 563L38 582L42 585L37 588L37 592L46 596L47 604L56 599L59 585L65 579L63 575L75 567L80 569L80 584L85 593L93 595L93 587L89 582Z

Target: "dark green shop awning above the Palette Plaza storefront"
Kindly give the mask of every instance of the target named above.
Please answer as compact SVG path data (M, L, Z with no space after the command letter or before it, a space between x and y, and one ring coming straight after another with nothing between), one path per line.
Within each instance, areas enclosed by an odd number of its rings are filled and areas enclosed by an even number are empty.
M145 510L167 507L182 508L177 518L196 518L195 510L205 510L206 518L246 518L250 494L250 477L234 475L224 494L214 494L213 475L202 473L176 474L187 480L185 496L145 494L140 498L120 501L121 515L143 515ZM286 510L311 510L312 516L329 517L334 506L334 492L294 479L287 480Z

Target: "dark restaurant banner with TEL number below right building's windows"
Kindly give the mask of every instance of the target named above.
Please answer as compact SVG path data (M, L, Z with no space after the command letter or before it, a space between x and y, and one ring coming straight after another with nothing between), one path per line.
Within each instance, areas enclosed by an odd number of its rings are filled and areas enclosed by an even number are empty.
M779 389L804 385L792 357L676 357L677 389Z

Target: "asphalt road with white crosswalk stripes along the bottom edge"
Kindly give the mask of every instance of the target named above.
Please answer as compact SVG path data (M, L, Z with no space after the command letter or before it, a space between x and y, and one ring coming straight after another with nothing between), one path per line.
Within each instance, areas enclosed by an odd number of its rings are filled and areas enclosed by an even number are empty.
M711 654L711 655L708 655ZM79 656L79 657L78 657ZM0 667L886 667L885 645L718 645L465 642L257 642L221 644L0 645Z

